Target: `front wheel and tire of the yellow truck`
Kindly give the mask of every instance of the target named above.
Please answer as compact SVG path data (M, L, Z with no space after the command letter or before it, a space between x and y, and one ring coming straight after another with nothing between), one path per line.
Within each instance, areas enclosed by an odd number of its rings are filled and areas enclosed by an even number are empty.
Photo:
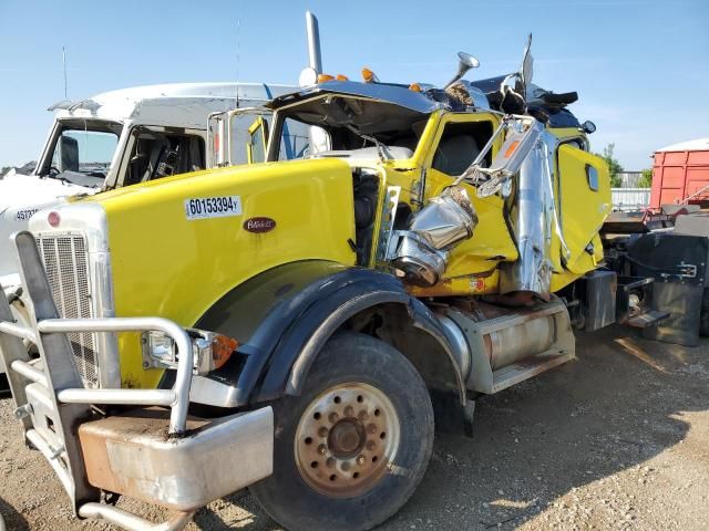
M251 486L290 531L362 531L394 514L423 478L433 408L421 376L392 346L333 336L300 396L274 404L274 473Z

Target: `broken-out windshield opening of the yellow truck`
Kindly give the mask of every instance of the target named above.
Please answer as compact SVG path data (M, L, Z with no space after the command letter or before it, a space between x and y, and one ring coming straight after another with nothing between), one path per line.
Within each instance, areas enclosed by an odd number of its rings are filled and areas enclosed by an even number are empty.
M269 160L346 156L342 152L353 150L367 150L374 158L409 158L427 121L424 113L387 102L314 98L278 111Z

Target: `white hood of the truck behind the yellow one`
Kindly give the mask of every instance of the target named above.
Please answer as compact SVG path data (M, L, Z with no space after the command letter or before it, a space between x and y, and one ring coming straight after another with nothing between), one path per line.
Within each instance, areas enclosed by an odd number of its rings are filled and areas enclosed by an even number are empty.
M18 281L10 235L25 230L29 219L38 210L56 205L70 196L96 191L97 188L12 171L0 179L0 283L3 288Z

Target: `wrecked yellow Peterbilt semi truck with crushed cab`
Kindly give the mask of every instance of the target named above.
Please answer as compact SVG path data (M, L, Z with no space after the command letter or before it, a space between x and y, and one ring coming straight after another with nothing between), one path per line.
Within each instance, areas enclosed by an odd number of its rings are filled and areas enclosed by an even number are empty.
M473 65L444 88L277 97L267 142L251 128L264 163L58 206L13 237L32 325L0 298L0 350L79 517L182 529L249 486L287 529L370 529L417 488L434 419L470 431L479 396L574 357L573 322L613 321L588 126L555 127L544 91L533 116L527 69L476 86Z

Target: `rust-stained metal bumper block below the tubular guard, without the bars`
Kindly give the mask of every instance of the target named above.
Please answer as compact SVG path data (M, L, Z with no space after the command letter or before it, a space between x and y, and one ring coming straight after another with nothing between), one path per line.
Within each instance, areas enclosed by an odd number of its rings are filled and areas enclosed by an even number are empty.
M168 418L162 413L136 409L81 425L89 482L187 512L270 475L270 408L188 418L188 435L177 438L165 437Z

